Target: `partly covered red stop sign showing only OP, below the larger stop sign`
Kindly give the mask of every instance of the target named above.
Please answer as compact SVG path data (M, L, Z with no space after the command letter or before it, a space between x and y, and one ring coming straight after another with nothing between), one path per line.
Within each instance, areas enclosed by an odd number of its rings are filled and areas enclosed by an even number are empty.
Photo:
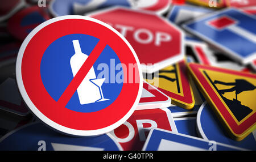
M157 127L177 132L169 109L135 110L125 123L110 134L121 144L123 150L142 150L149 131Z

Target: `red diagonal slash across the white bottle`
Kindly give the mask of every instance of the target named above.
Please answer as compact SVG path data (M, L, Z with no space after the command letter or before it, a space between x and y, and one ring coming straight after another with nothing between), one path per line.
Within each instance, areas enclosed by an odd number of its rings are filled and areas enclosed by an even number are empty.
M75 77L71 80L68 87L65 89L63 94L60 96L60 99L57 101L58 105L65 106L68 101L71 99L73 94L76 92L76 89L84 80L85 76L92 68L93 64L96 62L97 58L100 56L101 52L104 50L106 44L104 41L99 41L93 51L90 53L89 57L86 59L84 64L81 66L80 70L77 72Z

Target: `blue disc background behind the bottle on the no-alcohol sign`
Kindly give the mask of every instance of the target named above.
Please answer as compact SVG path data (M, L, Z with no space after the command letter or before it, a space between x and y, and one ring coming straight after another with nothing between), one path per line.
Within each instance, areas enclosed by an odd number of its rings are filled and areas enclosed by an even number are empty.
M44 87L55 101L59 100L60 96L63 94L73 79L70 59L75 54L75 49L73 48L72 40L79 40L82 53L88 56L99 41L99 39L93 36L72 34L60 37L48 46L42 57L40 64L40 74ZM106 45L100 54L100 57L97 58L97 61L93 65L96 77L102 71L97 70L97 67L100 63L106 63L106 65L109 67L109 77L104 76L106 78L105 82L108 81L108 83L102 84L104 98L109 100L81 105L76 91L71 97L71 100L68 101L68 104L65 106L65 108L74 110L76 112L97 112L98 110L106 108L112 104L115 99L117 99L119 93L121 92L123 82L110 83L110 75L113 75L110 74L110 59L115 60L115 66L118 63L121 63L114 50L110 48L109 45ZM117 73L123 74L123 69L114 70L114 72L111 70L111 72L114 73L115 76ZM123 78L121 80L123 81Z

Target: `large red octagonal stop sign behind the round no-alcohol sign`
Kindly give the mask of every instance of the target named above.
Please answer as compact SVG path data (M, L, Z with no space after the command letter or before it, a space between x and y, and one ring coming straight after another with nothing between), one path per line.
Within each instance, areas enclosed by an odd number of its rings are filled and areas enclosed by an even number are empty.
M183 32L152 12L113 7L89 16L125 36L138 55L143 73L154 73L184 57Z

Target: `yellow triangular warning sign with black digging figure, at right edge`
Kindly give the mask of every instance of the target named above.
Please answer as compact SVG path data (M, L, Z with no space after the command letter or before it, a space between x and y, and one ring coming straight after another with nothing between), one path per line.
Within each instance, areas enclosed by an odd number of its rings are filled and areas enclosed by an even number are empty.
M205 99L236 140L255 129L256 75L189 63Z

